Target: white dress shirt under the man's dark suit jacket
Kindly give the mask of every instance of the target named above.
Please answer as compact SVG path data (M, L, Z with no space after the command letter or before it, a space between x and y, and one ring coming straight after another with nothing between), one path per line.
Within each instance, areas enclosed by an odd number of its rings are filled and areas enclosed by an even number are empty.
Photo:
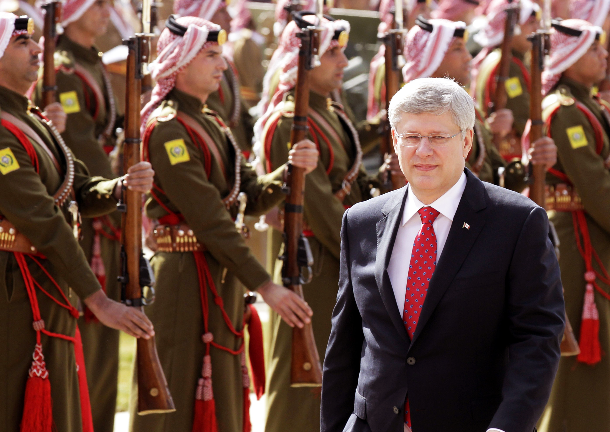
M409 273L409 262L411 262L411 252L415 242L415 236L422 229L422 218L417 213L422 207L427 207L426 204L418 200L415 193L412 192L411 186L407 184L408 195L407 202L404 204L403 218L398 227L396 241L390 256L390 264L387 266L387 273L390 276L392 290L396 298L396 304L400 316L403 316L404 311L404 294L407 291L407 276ZM453 223L453 217L458 210L458 205L462 199L462 194L466 188L466 175L462 173L456 184L451 189L445 192L436 201L429 204L434 210L440 214L432 224L434 234L436 234L436 262L439 262L440 254L447 242L447 236ZM488 429L487 432L504 432L500 429Z

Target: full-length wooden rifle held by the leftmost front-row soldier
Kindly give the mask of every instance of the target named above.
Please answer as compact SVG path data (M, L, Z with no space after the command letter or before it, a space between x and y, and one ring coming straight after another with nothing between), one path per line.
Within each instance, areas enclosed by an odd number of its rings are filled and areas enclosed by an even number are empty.
M140 91L143 68L149 61L149 7L143 7L143 33L123 40L127 54L127 89L125 96L125 140L123 168L140 162ZM146 15L145 15L146 14ZM127 306L140 308L150 304L143 297L143 287L152 288L154 278L148 261L142 254L142 193L123 188L118 210L121 221L121 295ZM154 337L137 339L138 414L176 411L157 355Z

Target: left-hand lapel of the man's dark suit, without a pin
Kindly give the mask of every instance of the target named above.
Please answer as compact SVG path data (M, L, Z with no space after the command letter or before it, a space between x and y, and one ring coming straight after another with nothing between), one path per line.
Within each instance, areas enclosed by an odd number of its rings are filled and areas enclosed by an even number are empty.
M398 313L398 306L396 304L396 298L394 297L392 283L390 282L390 276L387 273L387 266L390 264L392 249L394 248L398 227L400 226L400 221L403 216L404 203L407 198L407 188L404 187L403 189L402 193L393 193L394 196L392 196L381 209L382 214L385 216L379 220L376 226L377 254L375 259L375 279L384 306L386 306L390 319L392 319L392 323L397 328L398 333L404 338L405 342L409 344L409 335L404 328L403 319Z

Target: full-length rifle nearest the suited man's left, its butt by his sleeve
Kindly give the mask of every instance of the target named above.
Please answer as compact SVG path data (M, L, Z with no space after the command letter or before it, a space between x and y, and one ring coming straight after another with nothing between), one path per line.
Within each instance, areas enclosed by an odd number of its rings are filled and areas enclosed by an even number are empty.
M311 12L297 12L298 22L303 15ZM307 112L309 110L309 72L316 66L320 46L320 29L304 24L297 35L301 40L296 73L295 116L290 130L290 146L305 139L307 134ZM305 192L305 171L303 168L288 165L288 173L283 188L287 193L284 207L284 261L282 282L288 289L303 297L303 284L312 278L312 253L309 242L303 236L303 196ZM307 267L307 279L303 279L301 269ZM311 324L292 330L292 364L290 367L290 386L320 386L322 368L320 356L315 345Z

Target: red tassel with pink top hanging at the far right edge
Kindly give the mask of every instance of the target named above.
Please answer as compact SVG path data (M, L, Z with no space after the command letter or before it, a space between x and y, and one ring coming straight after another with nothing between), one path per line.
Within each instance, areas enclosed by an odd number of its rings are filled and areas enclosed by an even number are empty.
M595 306L595 294L593 284L587 279L587 289L584 293L583 319L580 323L580 354L578 361L588 365L594 365L601 361L601 346L600 346L600 317ZM595 274L593 275L595 278ZM595 279L594 279L595 280Z

